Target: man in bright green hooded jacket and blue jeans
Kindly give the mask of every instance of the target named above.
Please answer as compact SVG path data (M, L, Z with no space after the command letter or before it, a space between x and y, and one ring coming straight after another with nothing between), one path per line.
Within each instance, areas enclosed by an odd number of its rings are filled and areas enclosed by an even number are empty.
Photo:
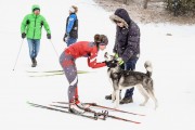
M24 17L21 24L21 32L22 38L27 38L28 41L29 56L32 63L31 67L36 67L36 57L39 52L42 26L47 31L48 39L51 39L51 31L46 18L40 15L40 6L36 4L32 5L31 11L31 14L27 14Z

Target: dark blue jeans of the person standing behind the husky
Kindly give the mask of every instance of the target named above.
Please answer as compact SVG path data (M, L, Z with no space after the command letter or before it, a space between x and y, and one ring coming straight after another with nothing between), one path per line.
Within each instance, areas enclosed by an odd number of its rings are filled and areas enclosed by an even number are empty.
M125 63L125 70L134 70L138 58L129 60ZM125 98L131 98L133 95L134 87L126 90Z

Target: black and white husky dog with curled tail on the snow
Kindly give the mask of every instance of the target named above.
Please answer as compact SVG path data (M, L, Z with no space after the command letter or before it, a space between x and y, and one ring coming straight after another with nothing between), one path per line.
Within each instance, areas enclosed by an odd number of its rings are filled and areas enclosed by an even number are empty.
M140 93L144 96L144 102L141 103L141 106L144 106L148 99L151 98L155 103L155 109L157 108L157 100L154 95L153 89L153 79L152 79L152 64L150 61L146 61L144 66L146 68L146 74L140 72L132 72L132 70L122 70L120 66L117 64L118 61L113 56L109 55L107 52L104 54L104 58L106 62L110 62L116 64L115 67L109 67L107 69L108 78L113 84L113 93L112 100L115 101L116 98L116 105L115 107L119 106L119 91L122 89L130 89L135 87L139 89Z

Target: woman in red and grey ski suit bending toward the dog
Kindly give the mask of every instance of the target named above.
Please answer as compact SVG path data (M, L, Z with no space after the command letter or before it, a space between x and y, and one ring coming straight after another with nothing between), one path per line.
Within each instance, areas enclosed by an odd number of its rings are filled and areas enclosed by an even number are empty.
M100 68L104 66L112 66L110 62L96 62L99 50L104 50L108 43L108 39L105 35L95 35L94 41L78 41L66 48L60 56L60 64L63 67L64 74L69 82L68 100L69 112L75 114L81 114L86 106L80 103L78 99L78 76L75 61L78 57L87 57L88 65L92 68Z

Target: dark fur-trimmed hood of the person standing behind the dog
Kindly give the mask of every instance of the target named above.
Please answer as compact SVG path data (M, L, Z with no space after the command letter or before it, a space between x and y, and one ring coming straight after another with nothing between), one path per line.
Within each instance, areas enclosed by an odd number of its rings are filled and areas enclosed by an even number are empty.
M117 9L115 11L115 14L110 15L109 18L113 22L119 21L119 22L123 23L126 28L128 28L131 23L131 18L125 9Z

